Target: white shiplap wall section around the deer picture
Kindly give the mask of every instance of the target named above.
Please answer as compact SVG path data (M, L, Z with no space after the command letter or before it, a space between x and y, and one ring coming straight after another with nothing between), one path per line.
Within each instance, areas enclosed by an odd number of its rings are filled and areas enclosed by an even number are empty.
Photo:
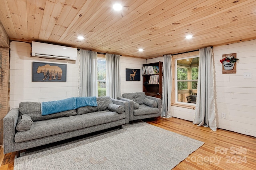
M121 95L123 93L142 92L142 64L146 59L136 59L132 57L120 57L121 63ZM140 81L126 81L126 68L140 69Z

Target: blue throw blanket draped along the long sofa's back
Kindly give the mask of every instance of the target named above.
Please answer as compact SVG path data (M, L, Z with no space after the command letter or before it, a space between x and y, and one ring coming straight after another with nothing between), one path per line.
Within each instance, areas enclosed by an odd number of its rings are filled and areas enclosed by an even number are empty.
M62 111L73 110L84 106L97 106L96 97L73 97L64 100L42 102L41 114L50 115Z

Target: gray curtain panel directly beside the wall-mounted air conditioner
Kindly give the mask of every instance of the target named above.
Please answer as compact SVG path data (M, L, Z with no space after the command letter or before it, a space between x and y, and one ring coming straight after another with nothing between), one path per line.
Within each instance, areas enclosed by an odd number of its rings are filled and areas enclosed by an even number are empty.
M80 50L79 96L98 97L97 53Z

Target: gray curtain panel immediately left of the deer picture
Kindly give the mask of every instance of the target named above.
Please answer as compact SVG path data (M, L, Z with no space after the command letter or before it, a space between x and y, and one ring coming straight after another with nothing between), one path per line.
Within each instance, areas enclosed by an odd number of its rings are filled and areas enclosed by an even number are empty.
M106 95L116 99L120 90L120 55L106 54Z

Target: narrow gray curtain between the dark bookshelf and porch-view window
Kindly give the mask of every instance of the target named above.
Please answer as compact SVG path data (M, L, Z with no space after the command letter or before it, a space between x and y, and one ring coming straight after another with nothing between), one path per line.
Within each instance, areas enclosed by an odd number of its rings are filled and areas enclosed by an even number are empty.
M170 118L172 94L172 55L164 55L163 62L163 91L162 91L162 117Z

